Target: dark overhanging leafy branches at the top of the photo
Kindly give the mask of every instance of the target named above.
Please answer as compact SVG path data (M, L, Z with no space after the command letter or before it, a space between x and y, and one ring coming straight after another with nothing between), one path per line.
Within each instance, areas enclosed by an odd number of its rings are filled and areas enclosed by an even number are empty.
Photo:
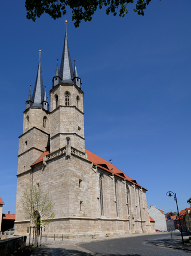
M139 15L144 16L144 10L151 0L26 0L27 19L35 22L36 17L43 13L49 14L53 19L60 18L66 14L66 7L72 9L72 20L75 20L75 27L79 26L81 20L91 21L97 8L107 7L106 14L113 13L119 8L119 16L124 17L128 13L127 5L136 3L134 9Z

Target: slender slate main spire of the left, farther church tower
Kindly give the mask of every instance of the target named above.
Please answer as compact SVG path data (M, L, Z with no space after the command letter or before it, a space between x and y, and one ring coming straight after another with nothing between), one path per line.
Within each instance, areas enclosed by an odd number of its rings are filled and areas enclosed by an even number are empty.
M42 107L42 101L44 101L44 88L42 83L42 71L41 71L41 50L39 50L39 64L35 82L35 89L32 95L32 107Z

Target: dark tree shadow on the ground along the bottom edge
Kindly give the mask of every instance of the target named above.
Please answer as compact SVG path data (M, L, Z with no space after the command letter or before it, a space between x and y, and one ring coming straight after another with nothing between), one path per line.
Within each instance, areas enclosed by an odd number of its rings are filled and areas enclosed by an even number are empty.
M114 256L115 254L91 254L88 252L83 252L83 251L77 251L77 250L68 250L64 248L48 248L48 247L41 247L41 248L33 248L32 249L32 256L98 256L98 255L107 255L107 256ZM124 256L124 255L119 255L118 256ZM125 256L141 256L140 254L125 254Z

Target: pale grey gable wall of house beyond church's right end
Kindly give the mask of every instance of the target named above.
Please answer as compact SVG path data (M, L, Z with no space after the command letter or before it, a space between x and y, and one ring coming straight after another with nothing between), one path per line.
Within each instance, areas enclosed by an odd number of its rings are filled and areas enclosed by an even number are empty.
M155 206L150 206L149 215L155 221L155 228L160 231L167 231L166 216L164 211L156 208Z

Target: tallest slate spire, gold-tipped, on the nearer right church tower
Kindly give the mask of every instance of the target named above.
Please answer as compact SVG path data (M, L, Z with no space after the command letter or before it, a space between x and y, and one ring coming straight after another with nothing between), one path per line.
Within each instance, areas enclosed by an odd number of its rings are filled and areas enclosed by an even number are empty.
M67 20L65 23L67 24ZM67 30L65 33L64 48L60 64L60 78L63 83L73 83L73 68L67 43Z

